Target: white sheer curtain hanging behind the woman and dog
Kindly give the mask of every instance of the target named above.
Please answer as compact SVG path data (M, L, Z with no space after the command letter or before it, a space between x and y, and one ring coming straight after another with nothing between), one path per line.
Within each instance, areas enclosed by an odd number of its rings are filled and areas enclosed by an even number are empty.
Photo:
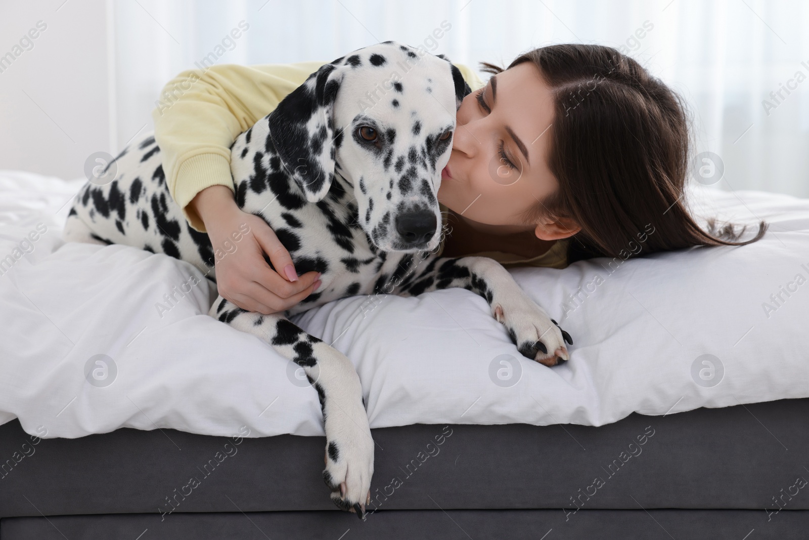
M535 47L581 42L623 47L685 97L697 151L713 151L724 162L718 189L809 197L809 2L113 0L112 6L118 147L151 129L163 84L211 53L219 63L328 62L397 40L477 70L480 61L506 66ZM249 28L227 40L240 21Z

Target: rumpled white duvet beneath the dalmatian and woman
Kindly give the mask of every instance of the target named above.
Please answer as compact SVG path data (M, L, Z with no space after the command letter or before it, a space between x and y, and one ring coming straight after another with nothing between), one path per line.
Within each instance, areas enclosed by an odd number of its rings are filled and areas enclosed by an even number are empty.
M243 426L322 436L297 366L208 317L214 286L193 266L62 243L82 184L0 171L0 423L16 417L46 437L118 427L232 436ZM753 229L765 219L769 232L740 248L511 270L573 337L563 366L523 358L464 289L353 296L293 320L352 359L371 427L598 426L633 411L809 397L809 199L693 189L698 215Z

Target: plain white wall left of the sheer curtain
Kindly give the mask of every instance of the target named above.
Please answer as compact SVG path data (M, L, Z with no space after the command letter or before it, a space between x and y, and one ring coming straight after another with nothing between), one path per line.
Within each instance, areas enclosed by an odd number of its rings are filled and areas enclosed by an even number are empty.
M0 65L0 168L74 178L88 155L115 151L106 3L62 2L0 0L0 56L19 53Z

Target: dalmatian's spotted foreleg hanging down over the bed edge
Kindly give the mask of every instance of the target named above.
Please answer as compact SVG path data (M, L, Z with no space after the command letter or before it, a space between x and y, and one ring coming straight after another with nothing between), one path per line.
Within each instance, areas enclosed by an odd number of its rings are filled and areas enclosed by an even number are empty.
M281 313L248 312L219 296L209 315L253 334L298 364L317 390L326 432L323 479L339 508L365 510L374 474L374 440L362 400L359 376L345 355L307 334Z

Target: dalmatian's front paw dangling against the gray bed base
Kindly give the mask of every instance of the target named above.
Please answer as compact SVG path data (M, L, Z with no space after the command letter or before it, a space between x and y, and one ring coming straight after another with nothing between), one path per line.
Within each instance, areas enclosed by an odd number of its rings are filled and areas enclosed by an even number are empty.
M329 414L326 420L326 468L323 480L332 490L337 508L357 512L365 519L365 505L371 502L371 476L374 474L374 440L368 417L349 416L345 411Z

